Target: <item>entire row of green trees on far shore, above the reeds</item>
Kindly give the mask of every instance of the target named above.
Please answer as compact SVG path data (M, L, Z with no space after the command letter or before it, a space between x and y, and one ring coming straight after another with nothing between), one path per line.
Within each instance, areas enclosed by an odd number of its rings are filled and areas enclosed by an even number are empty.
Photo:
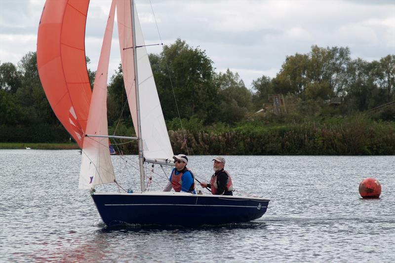
M174 131L180 128L178 115L191 132L201 131L201 127L226 130L249 122L270 126L303 123L306 118L351 116L395 100L394 54L367 62L352 59L348 47L314 45L307 54L287 56L276 77L263 75L253 80L251 90L237 72L228 69L217 73L204 50L181 39L164 45L160 54L150 54L149 58L166 124ZM89 71L89 77L93 86L94 72ZM0 62L0 87L0 135L5 142L37 140L42 125L62 134L40 84L35 52L27 53L17 65ZM271 105L269 94L285 96L286 115L254 114L264 105ZM342 98L343 103L330 107L328 102L333 97ZM110 130L117 127L121 133L122 129L133 132L125 103L119 66L108 84ZM371 116L375 120L394 121L394 108L387 107ZM32 139L26 134L32 134L34 127L41 128L33 132L37 136ZM18 129L21 135L9 134L12 129ZM69 138L65 131L60 137L63 136ZM48 135L43 142L58 140Z

